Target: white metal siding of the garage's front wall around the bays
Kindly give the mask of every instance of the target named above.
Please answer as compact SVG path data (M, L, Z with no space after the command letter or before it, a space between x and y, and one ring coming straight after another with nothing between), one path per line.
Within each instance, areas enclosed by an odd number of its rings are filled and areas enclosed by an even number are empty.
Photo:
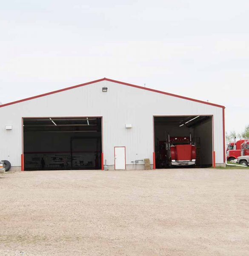
M114 146L126 146L129 165L144 158L153 163L153 116L213 115L216 162L223 163L222 114L222 108L212 105L100 81L0 108L0 158L20 166L22 117L103 116L104 160L114 165ZM127 123L132 128L125 128ZM13 130L6 131L6 125Z

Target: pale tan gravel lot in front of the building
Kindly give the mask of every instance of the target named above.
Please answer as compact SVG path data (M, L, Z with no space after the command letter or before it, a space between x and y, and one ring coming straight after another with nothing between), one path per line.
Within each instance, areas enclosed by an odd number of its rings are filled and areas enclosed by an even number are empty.
M0 255L249 255L249 172L0 175Z

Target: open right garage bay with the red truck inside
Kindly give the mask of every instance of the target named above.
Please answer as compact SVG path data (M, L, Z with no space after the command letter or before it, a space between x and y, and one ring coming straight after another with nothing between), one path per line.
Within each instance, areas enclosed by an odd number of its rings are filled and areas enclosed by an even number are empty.
M212 166L212 116L154 116L156 168Z

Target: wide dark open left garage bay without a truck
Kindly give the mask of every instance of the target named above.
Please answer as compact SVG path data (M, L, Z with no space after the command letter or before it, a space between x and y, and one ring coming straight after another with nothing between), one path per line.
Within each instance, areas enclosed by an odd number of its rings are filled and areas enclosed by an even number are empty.
M24 118L25 170L101 169L102 118Z

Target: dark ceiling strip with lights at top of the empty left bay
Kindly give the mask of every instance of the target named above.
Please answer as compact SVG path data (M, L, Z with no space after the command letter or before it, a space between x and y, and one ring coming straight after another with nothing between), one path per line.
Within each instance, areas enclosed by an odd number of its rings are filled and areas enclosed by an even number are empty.
M24 118L23 129L24 131L97 132L101 131L101 118Z

